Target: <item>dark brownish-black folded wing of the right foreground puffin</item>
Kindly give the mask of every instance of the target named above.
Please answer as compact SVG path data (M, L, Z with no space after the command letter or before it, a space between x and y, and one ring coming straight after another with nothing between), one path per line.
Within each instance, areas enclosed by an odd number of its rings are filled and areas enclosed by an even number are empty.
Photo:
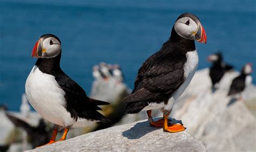
M186 55L157 52L140 67L134 90L125 102L140 102L159 95L169 97L184 82ZM155 101L157 102L157 101Z

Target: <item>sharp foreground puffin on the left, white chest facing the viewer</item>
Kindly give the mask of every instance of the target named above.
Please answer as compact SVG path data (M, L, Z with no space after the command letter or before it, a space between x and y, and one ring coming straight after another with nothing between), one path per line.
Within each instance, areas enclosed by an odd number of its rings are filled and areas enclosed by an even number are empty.
M60 68L62 44L53 34L44 34L32 49L32 57L38 58L25 83L25 93L30 104L43 118L52 122L54 143L59 129L66 139L70 127L85 127L96 122L108 123L100 114L99 105L109 103L87 97L81 86Z

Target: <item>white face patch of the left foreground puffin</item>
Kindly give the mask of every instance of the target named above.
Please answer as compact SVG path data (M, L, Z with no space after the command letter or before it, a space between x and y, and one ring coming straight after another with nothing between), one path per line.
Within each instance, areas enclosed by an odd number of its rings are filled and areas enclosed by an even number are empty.
M45 52L43 52L42 58L51 58L59 54L60 50L62 49L62 46L60 45L60 42L57 39L49 37L44 39L43 49L45 49Z

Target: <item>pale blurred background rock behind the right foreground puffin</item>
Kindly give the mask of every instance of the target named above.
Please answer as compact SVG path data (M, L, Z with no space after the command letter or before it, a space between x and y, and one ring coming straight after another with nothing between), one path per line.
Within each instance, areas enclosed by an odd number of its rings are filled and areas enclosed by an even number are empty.
M227 96L238 72L226 73L219 89L212 92L209 70L198 70L190 85L176 101L171 117L182 120L186 131L202 141L207 151L256 151L256 87L242 93L245 102ZM250 109L246 106L250 105ZM155 117L163 117L154 110ZM120 123L147 118L146 112L125 115Z

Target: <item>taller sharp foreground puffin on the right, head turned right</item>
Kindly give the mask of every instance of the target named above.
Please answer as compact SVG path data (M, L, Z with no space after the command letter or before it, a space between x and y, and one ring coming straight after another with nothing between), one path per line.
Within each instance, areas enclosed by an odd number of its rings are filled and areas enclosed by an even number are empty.
M170 38L139 68L131 95L123 99L127 114L146 111L151 126L170 133L185 130L183 124L169 125L169 115L197 70L194 40L206 44L205 29L197 16L183 13L174 23ZM152 119L154 109L163 112L163 119Z

